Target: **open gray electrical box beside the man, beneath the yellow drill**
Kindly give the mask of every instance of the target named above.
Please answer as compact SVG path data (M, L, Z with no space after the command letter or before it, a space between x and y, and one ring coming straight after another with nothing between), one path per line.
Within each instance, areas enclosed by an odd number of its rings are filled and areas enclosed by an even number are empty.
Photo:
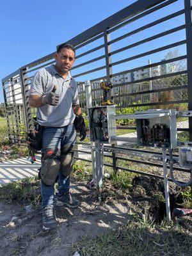
M111 143L111 136L116 136L116 120L109 118L115 115L115 106L97 106L88 109L90 118L90 140Z

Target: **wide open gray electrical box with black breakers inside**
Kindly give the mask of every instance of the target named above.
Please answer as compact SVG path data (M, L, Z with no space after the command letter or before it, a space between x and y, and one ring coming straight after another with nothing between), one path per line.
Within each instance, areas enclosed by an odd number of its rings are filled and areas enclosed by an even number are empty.
M175 109L150 109L136 112L138 145L177 147L176 115Z

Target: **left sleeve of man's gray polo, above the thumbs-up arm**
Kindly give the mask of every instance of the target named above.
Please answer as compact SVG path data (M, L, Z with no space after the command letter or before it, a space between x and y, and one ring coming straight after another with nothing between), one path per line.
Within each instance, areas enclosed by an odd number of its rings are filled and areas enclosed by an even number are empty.
M36 72L35 76L31 81L31 88L29 90L29 95L39 95L42 96L44 93L44 77L42 76L41 72Z

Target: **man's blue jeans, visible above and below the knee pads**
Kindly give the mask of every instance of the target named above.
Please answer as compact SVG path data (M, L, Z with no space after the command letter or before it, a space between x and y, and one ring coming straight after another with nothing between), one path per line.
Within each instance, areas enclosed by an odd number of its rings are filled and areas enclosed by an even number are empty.
M64 145L74 145L76 142L76 130L74 124L65 127L44 127L42 153L48 148L61 149ZM64 177L59 172L58 194L63 195L69 191L70 177ZM41 180L42 207L54 204L54 184L46 186Z

